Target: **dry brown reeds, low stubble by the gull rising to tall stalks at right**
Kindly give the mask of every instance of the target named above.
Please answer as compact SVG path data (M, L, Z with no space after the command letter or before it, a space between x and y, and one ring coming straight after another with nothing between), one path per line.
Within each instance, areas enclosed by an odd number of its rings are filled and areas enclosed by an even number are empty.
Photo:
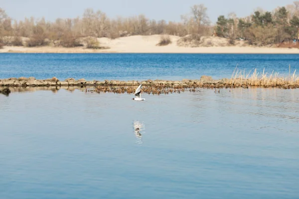
M99 86L91 92L96 93L128 93L133 94L138 86ZM196 88L207 89L219 89L219 88L249 88L249 87L262 87L262 88L283 88L283 89L295 89L299 88L299 77L296 75L296 70L291 74L291 66L289 66L289 76L280 76L278 72L272 72L271 74L257 72L257 69L253 73L245 74L245 70L239 70L238 65L233 71L232 77L226 81L217 82L188 82L181 85L177 85L175 88L169 85L152 84L150 86L143 86L142 93L160 95L180 93L184 91L196 92ZM220 93L220 90L214 91Z

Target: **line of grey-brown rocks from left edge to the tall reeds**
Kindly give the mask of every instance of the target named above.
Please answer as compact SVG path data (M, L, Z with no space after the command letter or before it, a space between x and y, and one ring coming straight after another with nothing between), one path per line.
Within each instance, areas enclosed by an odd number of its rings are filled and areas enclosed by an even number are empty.
M104 80L104 81L86 81L85 79L75 80L74 78L68 78L64 81L60 81L53 77L46 80L37 80L34 77L20 77L20 78L8 78L0 80L0 86L2 87L84 87L84 86L138 86L143 84L144 86L162 86L162 87L200 87L205 84L217 84L225 83L227 79L213 80L210 76L201 76L200 80L188 80L182 81L166 81L166 80L146 80L146 81L117 81L117 80Z

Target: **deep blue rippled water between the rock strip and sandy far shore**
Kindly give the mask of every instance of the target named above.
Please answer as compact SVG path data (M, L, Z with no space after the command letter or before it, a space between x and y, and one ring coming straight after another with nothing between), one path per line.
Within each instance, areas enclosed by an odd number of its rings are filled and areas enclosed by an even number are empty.
M296 54L0 54L0 79L10 77L86 80L182 80L230 78L235 67L289 75L299 69Z

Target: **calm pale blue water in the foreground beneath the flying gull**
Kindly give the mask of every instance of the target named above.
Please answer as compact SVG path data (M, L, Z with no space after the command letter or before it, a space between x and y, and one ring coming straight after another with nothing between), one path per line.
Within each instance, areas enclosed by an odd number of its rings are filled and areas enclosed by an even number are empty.
M298 89L143 97L0 95L0 198L298 198Z

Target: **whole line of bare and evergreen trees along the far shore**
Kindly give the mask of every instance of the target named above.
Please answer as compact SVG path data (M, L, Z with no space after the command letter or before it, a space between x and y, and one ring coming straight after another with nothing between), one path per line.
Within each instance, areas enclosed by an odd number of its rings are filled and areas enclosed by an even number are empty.
M88 8L81 17L57 18L54 22L34 17L14 20L0 8L0 46L26 45L28 47L53 45L80 46L79 38L108 37L115 39L130 35L168 34L176 36L197 35L228 38L233 44L242 38L253 45L268 45L297 39L299 32L299 1L278 7L273 11L257 9L247 17L235 13L220 15L215 25L211 24L204 4L193 5L190 12L181 15L180 22L151 20L145 15L128 18L109 18L101 10ZM199 37L198 37L199 35ZM28 38L25 44L22 37ZM88 40L90 47L97 46ZM95 44L95 45L94 45Z

